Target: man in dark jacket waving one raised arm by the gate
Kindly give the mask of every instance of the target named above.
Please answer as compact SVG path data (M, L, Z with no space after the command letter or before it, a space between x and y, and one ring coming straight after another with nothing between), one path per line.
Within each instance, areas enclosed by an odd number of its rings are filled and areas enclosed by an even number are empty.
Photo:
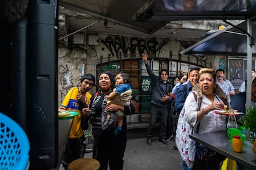
M152 145L153 127L156 123L157 115L161 116L161 127L159 141L163 144L168 144L165 140L166 137L166 121L168 116L169 103L173 99L171 95L168 95L173 89L171 83L168 81L168 71L161 70L160 78L156 76L148 65L147 55L142 54L142 60L148 71L148 75L152 80L152 97L151 97L151 120L148 124L147 131L147 144Z

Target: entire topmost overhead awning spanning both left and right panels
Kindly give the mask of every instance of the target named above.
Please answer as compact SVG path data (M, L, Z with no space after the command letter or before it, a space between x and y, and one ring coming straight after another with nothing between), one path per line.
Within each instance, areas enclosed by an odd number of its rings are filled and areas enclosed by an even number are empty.
M153 34L176 20L246 20L255 0L59 0L59 5Z

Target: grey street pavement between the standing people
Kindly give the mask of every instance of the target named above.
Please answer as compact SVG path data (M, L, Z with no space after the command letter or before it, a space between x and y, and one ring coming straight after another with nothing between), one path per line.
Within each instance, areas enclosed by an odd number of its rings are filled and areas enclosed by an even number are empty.
M158 130L156 132L159 132ZM154 133L155 135L155 133ZM181 156L173 149L174 139L168 145L153 137L153 144L147 144L146 129L127 132L127 146L124 153L124 170L179 170L182 169ZM85 153L86 158L92 158L92 153ZM64 168L59 168L63 170Z

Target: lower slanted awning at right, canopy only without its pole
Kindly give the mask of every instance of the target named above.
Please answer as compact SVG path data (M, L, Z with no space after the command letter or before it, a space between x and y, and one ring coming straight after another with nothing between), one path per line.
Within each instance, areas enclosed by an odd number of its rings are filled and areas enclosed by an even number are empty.
M193 46L181 51L181 54L190 55L233 55L247 56L247 22L237 25L244 31L233 26L207 36ZM256 22L252 24L252 41L255 44ZM252 46L252 55L256 56L256 47Z

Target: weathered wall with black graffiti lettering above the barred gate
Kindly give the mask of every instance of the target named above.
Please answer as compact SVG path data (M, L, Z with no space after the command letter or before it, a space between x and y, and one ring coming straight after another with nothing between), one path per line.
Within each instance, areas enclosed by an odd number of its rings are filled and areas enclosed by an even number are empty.
M187 63L197 63L195 57L188 58L187 55L179 55L182 50L179 41L108 34L99 34L98 37L98 46L88 46L85 42L83 45L71 44L64 46L62 44L59 47L59 104L69 89L79 84L80 76L85 73L92 73L96 77L96 65L101 65L102 63L108 63L108 65L116 63L121 67L122 60L140 60L142 52L146 52L150 59L176 61L176 65L178 61L181 62L182 60ZM209 60L208 62L211 61ZM102 67L105 66L102 65ZM179 69L180 65L177 65L176 68ZM94 93L95 90L96 88L93 88L91 92Z

